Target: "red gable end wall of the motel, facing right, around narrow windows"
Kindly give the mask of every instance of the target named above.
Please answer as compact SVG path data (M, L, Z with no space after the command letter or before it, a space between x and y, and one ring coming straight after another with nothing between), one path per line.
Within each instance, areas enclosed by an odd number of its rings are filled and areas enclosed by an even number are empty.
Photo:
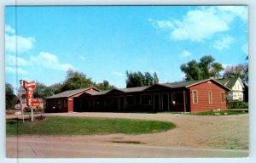
M197 91L197 104L193 104L192 91ZM212 91L212 104L209 104L208 92ZM221 102L221 92L225 93L224 88L219 87L214 82L203 82L201 84L189 87L190 108L191 112L201 112L207 110L226 110L226 95L224 95L224 103Z

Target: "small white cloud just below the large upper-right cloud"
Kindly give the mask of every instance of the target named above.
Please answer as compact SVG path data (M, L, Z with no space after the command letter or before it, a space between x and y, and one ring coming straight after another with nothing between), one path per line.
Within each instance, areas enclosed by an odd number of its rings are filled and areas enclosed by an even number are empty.
M235 41L233 37L221 37L217 41L213 42L213 47L218 50L228 49L230 45Z

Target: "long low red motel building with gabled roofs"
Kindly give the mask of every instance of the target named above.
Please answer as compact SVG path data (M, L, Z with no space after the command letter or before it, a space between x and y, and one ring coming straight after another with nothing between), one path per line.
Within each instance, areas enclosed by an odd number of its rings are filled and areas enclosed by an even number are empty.
M214 79L154 84L146 87L95 87L77 89L46 98L46 112L201 112L226 110L225 87Z

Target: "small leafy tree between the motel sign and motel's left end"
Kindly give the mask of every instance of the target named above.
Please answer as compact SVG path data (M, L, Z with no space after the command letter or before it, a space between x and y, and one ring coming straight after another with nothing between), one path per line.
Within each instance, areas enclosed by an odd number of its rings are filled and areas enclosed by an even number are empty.
M35 98L47 98L54 94L54 90L51 87L47 87L44 83L37 82L37 87L34 90Z

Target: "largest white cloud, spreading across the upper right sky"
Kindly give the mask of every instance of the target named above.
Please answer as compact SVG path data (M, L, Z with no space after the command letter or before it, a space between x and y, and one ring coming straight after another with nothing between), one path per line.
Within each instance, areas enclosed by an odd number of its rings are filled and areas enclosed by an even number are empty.
M203 42L215 34L229 31L230 23L239 18L247 20L247 8L244 6L233 7L201 7L190 10L180 20L151 20L157 28L169 28L173 40L189 40Z

